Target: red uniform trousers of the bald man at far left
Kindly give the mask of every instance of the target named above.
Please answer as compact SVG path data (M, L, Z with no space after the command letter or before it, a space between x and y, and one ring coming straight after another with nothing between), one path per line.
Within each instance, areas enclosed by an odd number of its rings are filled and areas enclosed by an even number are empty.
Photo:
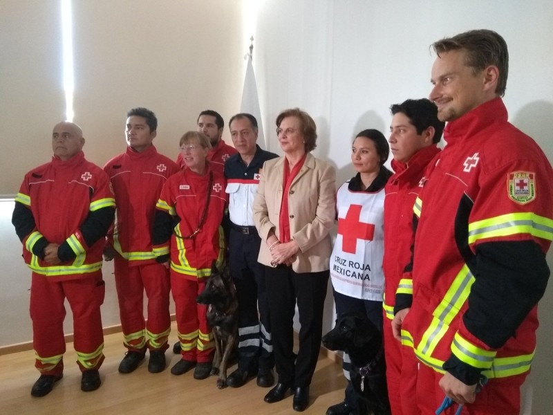
M64 318L67 298L73 312L73 347L81 371L98 369L104 361L104 333L100 306L104 302L105 285L102 273L80 279L51 281L32 273L30 318L35 367L41 375L61 375L66 351Z

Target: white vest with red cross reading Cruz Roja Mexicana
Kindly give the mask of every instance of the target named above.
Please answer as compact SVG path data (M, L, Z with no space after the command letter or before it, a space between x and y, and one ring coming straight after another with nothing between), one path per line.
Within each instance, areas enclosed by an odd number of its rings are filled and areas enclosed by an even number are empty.
M338 234L330 257L332 286L341 294L382 301L384 293L384 188L337 193Z

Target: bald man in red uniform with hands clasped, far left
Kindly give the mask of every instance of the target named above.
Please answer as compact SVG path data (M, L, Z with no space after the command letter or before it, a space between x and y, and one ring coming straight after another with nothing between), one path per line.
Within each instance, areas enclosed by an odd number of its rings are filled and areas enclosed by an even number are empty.
M108 176L84 158L83 145L77 124L56 124L52 161L28 172L15 198L12 223L32 270L32 345L40 377L30 393L37 397L49 394L63 377L65 299L73 311L81 389L101 384L102 250L115 201Z

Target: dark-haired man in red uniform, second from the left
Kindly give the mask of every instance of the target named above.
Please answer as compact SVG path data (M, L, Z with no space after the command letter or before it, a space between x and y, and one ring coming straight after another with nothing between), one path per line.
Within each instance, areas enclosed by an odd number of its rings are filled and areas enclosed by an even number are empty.
M128 147L104 166L111 179L117 220L104 252L115 259L115 287L119 312L128 350L119 365L122 374L134 371L150 351L148 370L165 369L167 338L171 331L169 315L169 270L156 257L169 253L153 249L151 232L156 203L169 176L178 166L153 146L158 119L145 108L126 114L125 136ZM148 297L148 321L142 312L144 291Z

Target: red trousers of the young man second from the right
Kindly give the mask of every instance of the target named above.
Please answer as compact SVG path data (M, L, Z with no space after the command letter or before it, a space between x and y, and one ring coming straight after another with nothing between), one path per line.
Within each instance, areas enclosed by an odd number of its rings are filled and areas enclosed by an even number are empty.
M420 415L415 400L419 360L413 349L402 346L393 337L392 320L384 312L384 356L386 382L393 415ZM422 365L422 364L421 364ZM437 407L436 407L437 408Z

